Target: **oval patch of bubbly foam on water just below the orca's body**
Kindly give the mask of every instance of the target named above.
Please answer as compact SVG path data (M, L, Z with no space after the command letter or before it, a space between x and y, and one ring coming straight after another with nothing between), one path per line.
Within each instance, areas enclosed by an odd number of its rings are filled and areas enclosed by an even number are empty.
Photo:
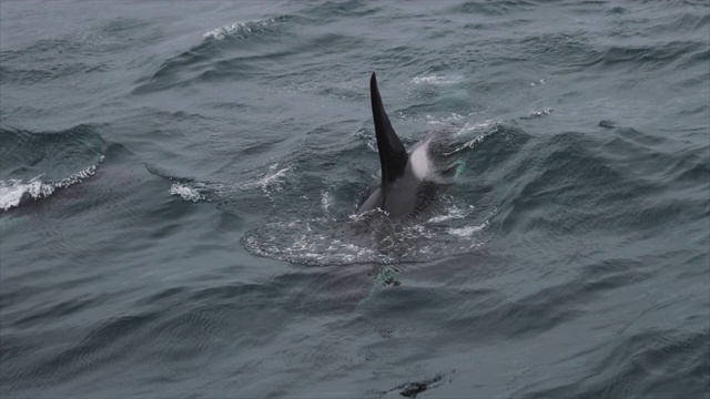
M312 266L430 262L484 244L488 221L466 217L471 209L449 205L443 215L418 223L390 219L378 209L346 219L278 221L247 232L242 245L257 256Z

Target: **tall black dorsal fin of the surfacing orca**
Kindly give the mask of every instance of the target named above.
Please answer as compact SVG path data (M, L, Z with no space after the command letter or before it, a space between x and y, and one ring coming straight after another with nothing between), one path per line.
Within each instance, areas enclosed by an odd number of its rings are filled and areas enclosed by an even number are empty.
M377 152L379 153L379 163L382 166L382 184L392 183L397 177L404 175L407 166L407 152L402 141L392 129L389 117L385 112L377 90L377 78L375 72L369 80L369 96L373 103L373 119L375 120L375 134L377 135Z

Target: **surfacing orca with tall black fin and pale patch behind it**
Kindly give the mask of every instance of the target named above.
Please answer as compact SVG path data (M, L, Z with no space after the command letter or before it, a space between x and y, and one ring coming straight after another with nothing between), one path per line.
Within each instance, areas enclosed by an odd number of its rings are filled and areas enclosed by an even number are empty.
M432 178L433 136L406 151L385 112L375 72L369 80L369 95L382 178L379 185L372 187L365 195L357 207L356 215L374 209L381 209L392 218L415 215L428 205L436 190Z

